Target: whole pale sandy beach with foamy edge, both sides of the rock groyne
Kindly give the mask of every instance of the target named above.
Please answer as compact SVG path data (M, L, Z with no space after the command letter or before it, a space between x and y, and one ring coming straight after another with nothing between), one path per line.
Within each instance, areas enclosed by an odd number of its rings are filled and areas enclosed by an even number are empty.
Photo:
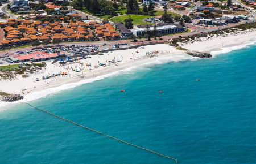
M189 41L181 44L183 48L200 52L221 52L234 46L244 46L253 43L256 40L256 31L242 31L236 34L226 34L223 36L203 37L198 40ZM232 50L232 49L230 49ZM154 53L158 51L158 53ZM149 57L147 53L154 54ZM59 92L78 85L90 83L94 80L103 79L118 72L127 69L136 69L143 64L164 63L170 61L182 61L186 59L199 59L185 54L183 50L177 50L174 46L167 44L142 46L137 49L110 51L101 55L92 55L91 58L67 63L64 66L59 62L52 64L51 61L45 61L47 66L28 77L18 77L15 80L0 80L0 90L7 93L22 94L24 100L34 100L46 96L47 94ZM119 61L108 64L108 61ZM86 67L86 64L91 66ZM106 66L95 68L99 63L106 63ZM79 72L73 70L81 70ZM55 76L43 80L42 76L67 72L65 76ZM36 81L39 78L39 81ZM65 86L64 86L65 85ZM63 87L61 87L63 86Z

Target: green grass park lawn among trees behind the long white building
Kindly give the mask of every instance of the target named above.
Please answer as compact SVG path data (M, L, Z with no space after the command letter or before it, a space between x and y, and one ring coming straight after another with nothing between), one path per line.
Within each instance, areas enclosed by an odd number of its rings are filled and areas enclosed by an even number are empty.
M176 14L174 12L167 12L168 14L171 14L171 16L174 18L175 16L180 16L179 14ZM164 11L155 11L155 16L160 16L163 15ZM131 15L131 19L133 19L133 24L152 24L148 23L146 21L143 21L143 19L150 18L153 16L150 15ZM114 18L110 18L110 21L114 21L115 23L117 22L123 22L125 19L129 18L129 15L119 15L115 16Z

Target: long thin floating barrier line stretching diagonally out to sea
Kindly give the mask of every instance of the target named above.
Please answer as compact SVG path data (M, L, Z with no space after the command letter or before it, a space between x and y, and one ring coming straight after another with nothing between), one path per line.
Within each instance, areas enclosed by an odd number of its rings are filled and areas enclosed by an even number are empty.
M156 154L156 155L158 155L158 156L161 156L161 157L164 157L164 158L171 159L172 161L175 161L175 162L176 162L176 164L177 164L177 159L175 159L175 158L172 158L172 157L169 157L169 156L166 156L166 155L160 154L160 153L158 153L158 152L154 152L153 150L150 150L150 149L142 148L141 146L137 146L137 145L134 145L134 144L128 143L128 142L123 141L123 140L121 140L121 139L117 139L117 138L115 138L115 137L113 137L113 136L106 135L105 133L102 133L102 132L99 132L99 131L93 130L92 128L89 128L89 127L83 126L83 125L81 125L81 124L79 124L79 123L72 122L71 120L68 120L68 119L62 118L61 116L55 115L55 114L53 114L53 113L50 113L49 111L46 111L46 110L40 109L39 107L33 106L33 105L31 105L30 103L26 103L26 104L27 104L28 106L30 106L30 107L32 107L32 108L34 108L34 109L37 109L37 110L43 111L44 113L50 114L50 115L52 115L52 116L55 116L56 118L62 119L62 120L64 120L64 121L69 122L69 123L72 123L72 124L75 124L76 126L80 126L80 127L85 128L85 129L87 129L87 130L90 130L90 131L96 132L96 133L98 133L98 134L100 134L100 135L104 135L104 136L109 137L109 138L111 138L111 139L114 139L114 140L120 141L121 143L124 143L124 144L130 145L130 146L134 146L135 148L145 150L145 151L147 151L147 152L150 152L150 153Z

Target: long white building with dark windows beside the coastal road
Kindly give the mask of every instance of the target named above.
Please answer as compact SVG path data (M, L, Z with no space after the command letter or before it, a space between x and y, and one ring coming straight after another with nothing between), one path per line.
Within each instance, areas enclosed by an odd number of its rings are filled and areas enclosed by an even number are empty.
M148 30L152 33L154 31L154 27L148 28ZM133 32L134 36L144 36L144 32L147 31L147 28L136 28L132 29L131 32ZM172 33L178 33L180 31L183 31L183 27L178 27L176 25L163 25L156 27L156 31L159 34L172 34Z

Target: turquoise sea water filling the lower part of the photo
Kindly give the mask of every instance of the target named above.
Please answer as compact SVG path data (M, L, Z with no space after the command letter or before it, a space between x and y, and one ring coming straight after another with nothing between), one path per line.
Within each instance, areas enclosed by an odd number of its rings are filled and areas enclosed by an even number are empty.
M255 51L152 65L31 104L179 163L256 163ZM0 145L1 163L175 163L25 104L0 113Z

